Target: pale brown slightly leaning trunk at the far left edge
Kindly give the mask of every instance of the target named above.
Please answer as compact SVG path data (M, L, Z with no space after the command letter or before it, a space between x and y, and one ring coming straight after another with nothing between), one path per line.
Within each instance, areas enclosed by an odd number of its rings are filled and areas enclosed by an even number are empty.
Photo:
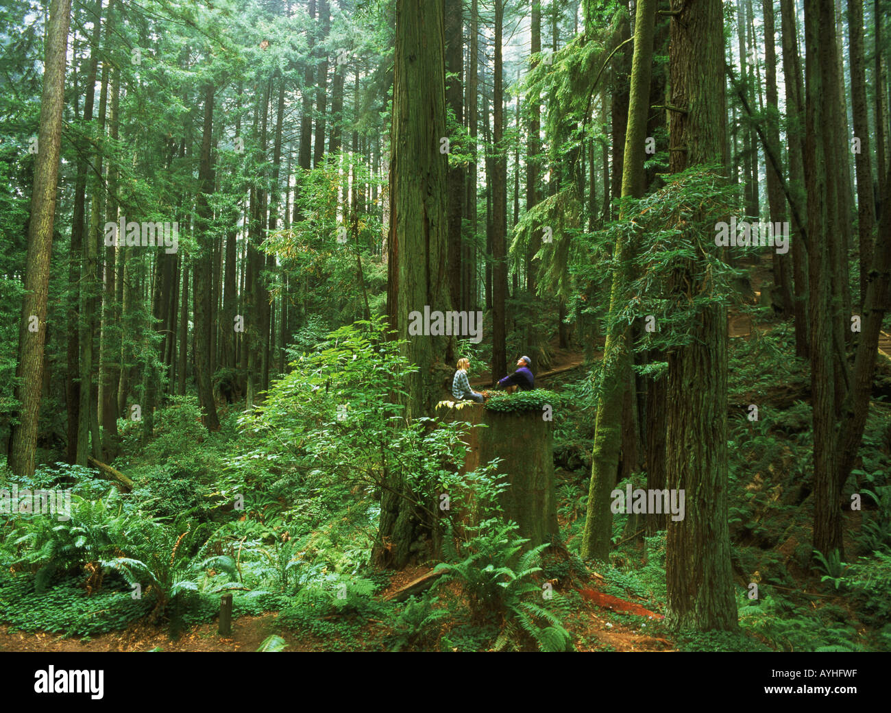
M18 478L29 478L34 474L37 453L37 420L43 396L46 301L50 258L53 253L53 221L59 175L61 114L65 103L65 56L68 51L70 14L70 0L53 0L50 4L34 190L31 193L28 225L25 294L19 324L19 363L15 373L18 381L14 398L20 403L19 422L12 426L7 459L10 470Z

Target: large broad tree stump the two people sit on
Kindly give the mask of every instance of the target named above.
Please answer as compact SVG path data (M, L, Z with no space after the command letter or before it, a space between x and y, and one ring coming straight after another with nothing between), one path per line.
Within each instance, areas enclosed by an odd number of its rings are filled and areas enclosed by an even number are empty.
M542 411L517 413L489 411L466 404L460 409L444 406L445 421L466 421L468 444L462 473L501 458L497 472L507 476L509 487L499 497L506 520L516 520L527 547L551 542L560 534L554 489L553 428ZM485 424L487 428L481 428Z

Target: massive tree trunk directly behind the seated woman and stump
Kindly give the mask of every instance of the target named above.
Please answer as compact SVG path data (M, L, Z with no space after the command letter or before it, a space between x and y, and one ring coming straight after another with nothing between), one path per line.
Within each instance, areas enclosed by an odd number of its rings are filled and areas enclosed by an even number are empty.
M451 307L446 277L448 167L438 142L446 135L443 12L443 0L396 0L387 311L396 338L405 340L403 353L418 366L400 396L406 419L432 412L441 389L437 362L448 342L447 337L408 331L413 311L423 314L425 305L443 311ZM398 568L435 523L405 499L404 473L394 471L386 478L373 558L379 566Z

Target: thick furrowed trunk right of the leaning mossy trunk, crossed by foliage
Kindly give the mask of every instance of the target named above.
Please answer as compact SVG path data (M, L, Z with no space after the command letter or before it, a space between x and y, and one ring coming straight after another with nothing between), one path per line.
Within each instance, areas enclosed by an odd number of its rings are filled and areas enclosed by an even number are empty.
M725 162L723 4L683 4L671 25L669 168ZM709 236L709 239L711 236ZM697 291L704 275L676 276L678 292ZM677 628L735 629L727 525L727 311L706 307L692 343L668 355L666 486L691 504L667 531L666 620Z

